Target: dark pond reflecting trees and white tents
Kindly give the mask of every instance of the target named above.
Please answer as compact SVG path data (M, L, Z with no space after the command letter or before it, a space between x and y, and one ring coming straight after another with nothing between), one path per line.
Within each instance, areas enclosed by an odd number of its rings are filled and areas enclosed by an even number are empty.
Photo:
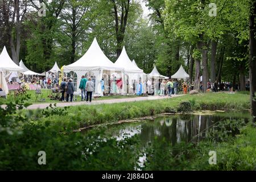
M137 137L139 152L137 164L143 169L147 156L154 151L156 155L162 155L159 150L168 150L172 156L180 154L184 150L177 147L181 144L196 144L208 139L214 142L222 142L234 138L240 133L240 129L249 122L250 113L247 111L236 112L203 112L198 114L174 114L145 121L121 123L105 126L105 138L114 138L118 141ZM90 130L101 130L97 127ZM85 134L87 131L84 131ZM167 146L172 150L167 149ZM156 147L158 146L158 147ZM178 148L175 148L175 146ZM148 150L148 148L151 148ZM175 163L176 164L176 163Z

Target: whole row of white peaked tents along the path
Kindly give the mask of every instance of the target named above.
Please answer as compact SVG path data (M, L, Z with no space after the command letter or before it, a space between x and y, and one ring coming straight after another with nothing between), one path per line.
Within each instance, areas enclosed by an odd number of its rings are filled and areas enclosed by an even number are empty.
M100 46L96 38L94 38L92 45L89 47L88 51L75 63L70 65L66 65L61 68L64 73L76 73L77 83L80 82L82 75L89 75L95 78L95 95L102 96L103 92L101 89L101 78L110 77L118 77L122 78L123 86L121 90L121 94L126 94L129 92L130 85L134 84L134 81L139 83L140 81L145 83L148 79L167 79L168 77L160 75L156 67L152 70L150 74L146 74L140 69L135 60L131 61L129 56L126 53L125 47L123 47L121 55L118 57L117 61L113 63L105 56L104 52L101 50ZM23 61L20 61L19 66L16 65L13 60L11 60L9 54L6 51L6 48L3 48L3 51L0 55L0 72L5 75L7 72L21 72L24 75L46 75L47 73L35 73L30 71L26 65L24 65ZM49 72L59 72L60 68L57 63L53 66L53 68ZM181 66L179 71L172 76L172 78L188 78L189 75L184 71ZM2 81L3 79L1 79ZM3 84L1 82L3 87ZM77 93L80 92L79 84L77 85ZM5 89L5 88L3 88Z

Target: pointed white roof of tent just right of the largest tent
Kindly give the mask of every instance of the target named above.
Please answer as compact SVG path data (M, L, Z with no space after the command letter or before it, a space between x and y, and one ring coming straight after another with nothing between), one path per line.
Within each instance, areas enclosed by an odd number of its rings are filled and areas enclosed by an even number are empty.
M126 53L125 47L123 47L121 55L118 57L117 61L115 61L115 65L124 68L125 72L128 73L143 73L142 69L139 69L131 62L129 56Z

